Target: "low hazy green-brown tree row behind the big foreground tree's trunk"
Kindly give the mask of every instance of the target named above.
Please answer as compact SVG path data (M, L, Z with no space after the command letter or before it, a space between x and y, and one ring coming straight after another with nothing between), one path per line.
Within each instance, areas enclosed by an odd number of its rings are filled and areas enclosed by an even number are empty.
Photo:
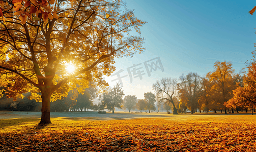
M31 93L23 95L23 99L7 98L6 94L0 98L0 110L12 111L41 111L42 103L30 100ZM89 87L83 94L78 94L77 90L69 91L66 98L51 102L51 111L84 111L93 108L93 100L97 97L97 89Z

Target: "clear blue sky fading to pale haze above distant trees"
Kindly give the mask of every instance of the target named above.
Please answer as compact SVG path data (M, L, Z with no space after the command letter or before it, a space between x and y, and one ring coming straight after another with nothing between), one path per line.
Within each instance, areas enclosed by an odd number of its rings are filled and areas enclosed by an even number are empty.
M127 0L127 8L135 16L148 23L141 28L146 51L133 58L116 59L116 71L120 73L125 95L144 98L144 92L153 92L152 85L162 77L179 79L182 73L197 72L206 75L213 71L216 61L231 61L238 72L252 58L256 43L256 12L248 12L255 1L152 1ZM159 57L164 71L152 70L149 77L145 61ZM154 60L156 61L156 60ZM129 67L144 70L130 81ZM148 62L150 63L150 62ZM156 62L155 62L156 63ZM154 67L154 64L152 64ZM159 63L158 63L159 66ZM132 70L132 68L130 68ZM135 77L132 75L132 77ZM118 81L117 75L105 78L110 86Z

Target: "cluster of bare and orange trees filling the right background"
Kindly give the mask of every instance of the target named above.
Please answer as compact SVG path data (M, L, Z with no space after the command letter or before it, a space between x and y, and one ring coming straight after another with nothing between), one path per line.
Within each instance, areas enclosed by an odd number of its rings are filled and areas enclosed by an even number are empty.
M238 73L232 69L231 62L215 62L214 71L206 76L195 72L182 74L177 79L162 78L153 89L158 99L157 105L165 103L172 106L173 113L197 110L206 113L209 110L223 113L234 113L240 110L255 111L256 105L256 64L255 61L247 66L248 73L241 69ZM243 75L242 75L243 74Z

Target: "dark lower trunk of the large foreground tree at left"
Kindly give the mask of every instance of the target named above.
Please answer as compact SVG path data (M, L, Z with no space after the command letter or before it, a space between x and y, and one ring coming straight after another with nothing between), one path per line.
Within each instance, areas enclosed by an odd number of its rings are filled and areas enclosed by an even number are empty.
M41 121L39 124L51 124L50 120L50 111L51 111L51 106L50 106L50 101L51 101L51 94L49 91L42 91L41 92L41 98L42 98L42 109L41 109Z

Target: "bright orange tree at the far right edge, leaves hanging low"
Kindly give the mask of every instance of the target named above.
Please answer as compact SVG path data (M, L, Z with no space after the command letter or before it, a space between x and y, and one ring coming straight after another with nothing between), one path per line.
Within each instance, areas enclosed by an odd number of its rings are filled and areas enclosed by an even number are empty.
M248 67L248 72L244 77L243 86L237 84L233 90L234 96L227 102L226 107L245 107L251 108L251 112L256 105L256 63L253 61ZM252 113L253 114L253 113Z

